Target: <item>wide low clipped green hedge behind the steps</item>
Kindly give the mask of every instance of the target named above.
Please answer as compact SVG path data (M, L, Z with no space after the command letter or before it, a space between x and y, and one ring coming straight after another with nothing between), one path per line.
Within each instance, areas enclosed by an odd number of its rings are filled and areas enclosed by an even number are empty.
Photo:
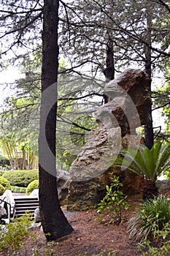
M31 181L39 178L38 170L9 170L3 174L12 186L28 187Z

